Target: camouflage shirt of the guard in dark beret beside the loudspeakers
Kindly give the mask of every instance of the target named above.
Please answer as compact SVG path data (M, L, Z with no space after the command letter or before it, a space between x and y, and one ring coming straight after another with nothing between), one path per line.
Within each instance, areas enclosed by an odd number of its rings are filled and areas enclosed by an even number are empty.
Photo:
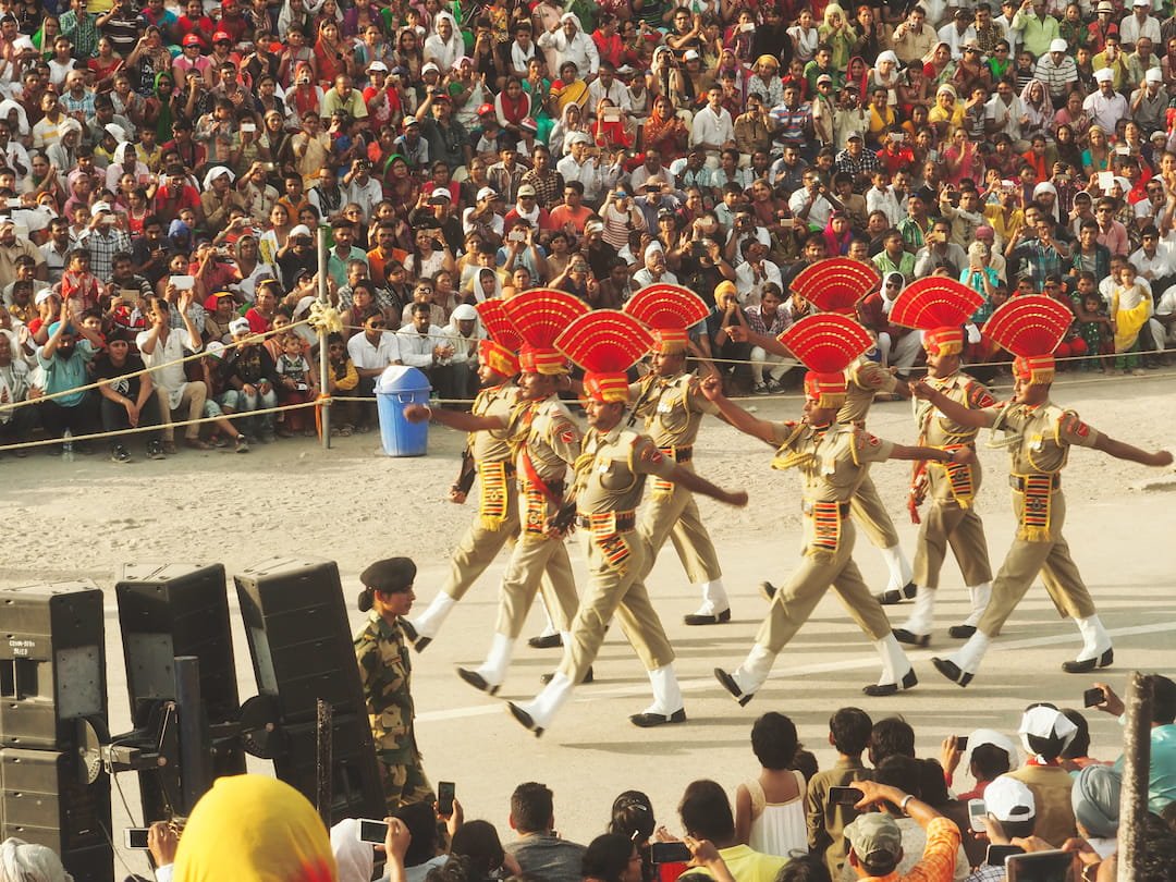
M400 624L388 624L375 610L355 635L355 660L367 704L376 756L403 764L413 759L413 664Z

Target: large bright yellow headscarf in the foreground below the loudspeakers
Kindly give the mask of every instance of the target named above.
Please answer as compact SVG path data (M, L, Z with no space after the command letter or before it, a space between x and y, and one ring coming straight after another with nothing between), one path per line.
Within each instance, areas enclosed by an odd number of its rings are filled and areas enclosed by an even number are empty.
M338 882L310 803L265 775L218 779L188 818L174 882Z

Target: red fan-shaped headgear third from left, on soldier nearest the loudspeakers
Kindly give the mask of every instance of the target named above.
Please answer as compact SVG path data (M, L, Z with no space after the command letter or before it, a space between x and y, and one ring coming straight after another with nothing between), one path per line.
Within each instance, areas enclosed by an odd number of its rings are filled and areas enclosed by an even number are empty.
M556 348L584 369L584 393L596 401L628 401L626 372L653 346L653 335L619 309L596 309L574 320Z

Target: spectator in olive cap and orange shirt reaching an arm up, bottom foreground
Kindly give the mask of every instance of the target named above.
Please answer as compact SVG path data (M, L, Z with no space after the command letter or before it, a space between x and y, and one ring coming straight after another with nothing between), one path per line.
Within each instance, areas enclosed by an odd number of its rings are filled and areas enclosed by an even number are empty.
M949 880L955 877L960 854L960 828L922 800L896 787L874 781L860 781L855 787L864 794L855 806L866 810L871 806L889 803L894 814L906 814L924 833L927 846L906 873L902 831L890 814L867 811L846 827L849 853L847 864L856 878ZM964 874L967 875L967 874Z

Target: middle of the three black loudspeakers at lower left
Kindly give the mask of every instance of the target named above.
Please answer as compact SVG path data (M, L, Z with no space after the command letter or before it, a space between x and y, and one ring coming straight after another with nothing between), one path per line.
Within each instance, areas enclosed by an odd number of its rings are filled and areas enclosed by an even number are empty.
M128 564L114 589L134 727L151 729L160 702L178 697L175 656L196 656L212 777L243 774L245 751L235 729L241 707L225 567ZM200 796L181 796L175 764L141 771L139 784L148 820L171 817L183 802Z

